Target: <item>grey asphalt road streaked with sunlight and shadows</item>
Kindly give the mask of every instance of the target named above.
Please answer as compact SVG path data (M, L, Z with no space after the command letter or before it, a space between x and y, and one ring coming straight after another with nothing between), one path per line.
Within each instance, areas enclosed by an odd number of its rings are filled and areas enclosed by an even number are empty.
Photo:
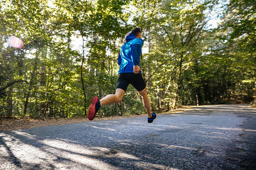
M0 169L255 169L247 106L0 131Z

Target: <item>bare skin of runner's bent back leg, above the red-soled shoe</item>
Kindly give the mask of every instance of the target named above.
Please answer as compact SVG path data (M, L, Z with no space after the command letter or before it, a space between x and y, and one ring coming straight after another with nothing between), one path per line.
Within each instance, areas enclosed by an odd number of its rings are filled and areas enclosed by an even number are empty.
M100 99L100 106L111 103L120 103L124 97L125 91L123 89L116 89L115 94L109 94L108 96Z

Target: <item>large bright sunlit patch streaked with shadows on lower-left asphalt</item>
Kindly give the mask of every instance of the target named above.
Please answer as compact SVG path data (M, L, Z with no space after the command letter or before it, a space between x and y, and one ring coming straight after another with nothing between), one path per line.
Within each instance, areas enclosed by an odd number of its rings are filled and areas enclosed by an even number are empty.
M5 153L1 156L8 157L8 155L12 155L12 157L15 157L16 159L15 164L17 164L17 162L20 162L20 167L22 167L22 162L33 162L33 164L42 164L42 162L47 160L48 164L54 164L54 167L56 168L68 167L70 163L82 166L86 165L86 167L91 167L92 169L115 168L115 166L99 160L100 157L111 157L111 155L108 154L108 152L110 152L111 150L109 148L103 148L99 146L88 147L81 144L70 143L70 141L64 142L63 140L58 139L38 140L35 138L29 138L29 141L27 141L27 139L23 141L23 138L21 140L16 139L20 139L20 137L22 136L26 136L26 133L17 132L13 133L13 135L10 133L4 136L4 138L6 138L6 141L1 140L2 142L4 142L4 145L6 147L4 148L3 145L0 145L1 153ZM19 141L19 145L21 146L11 145L10 142L12 140L10 139L13 138L15 139L15 141ZM10 153L8 153L7 150ZM61 155L59 155L60 151ZM119 159L140 160L137 157L134 157L133 155L129 155L124 152L118 152L114 155L115 158Z

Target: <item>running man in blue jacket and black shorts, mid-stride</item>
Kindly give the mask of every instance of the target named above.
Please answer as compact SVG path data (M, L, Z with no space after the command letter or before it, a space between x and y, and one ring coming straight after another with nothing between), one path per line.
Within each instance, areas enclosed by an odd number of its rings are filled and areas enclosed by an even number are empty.
M120 65L120 69L118 71L119 76L116 92L115 94L109 94L100 100L98 97L92 98L92 103L88 111L89 120L93 120L101 106L111 103L120 103L130 83L136 90L138 90L142 97L143 106L148 114L148 123L152 123L156 118L156 113L151 113L146 83L141 76L140 55L142 46L143 40L141 39L140 28L136 27L125 35L124 45L118 56L118 65Z

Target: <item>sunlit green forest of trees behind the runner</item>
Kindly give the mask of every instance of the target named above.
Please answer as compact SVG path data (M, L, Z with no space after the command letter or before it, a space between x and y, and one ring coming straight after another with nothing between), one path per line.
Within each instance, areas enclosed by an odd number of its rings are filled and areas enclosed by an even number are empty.
M0 117L86 115L92 97L115 93L134 27L154 111L253 101L256 1L0 0ZM24 46L8 45L10 36ZM144 113L130 85L98 116Z

